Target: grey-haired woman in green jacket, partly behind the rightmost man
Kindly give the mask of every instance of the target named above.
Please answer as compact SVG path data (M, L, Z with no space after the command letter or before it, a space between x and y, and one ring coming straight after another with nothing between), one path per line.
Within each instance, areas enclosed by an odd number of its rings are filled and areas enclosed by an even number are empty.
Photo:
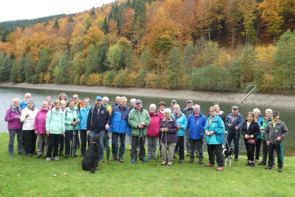
M266 109L265 110L265 118L263 118L262 126L260 127L260 130L262 131L261 139L262 139L262 160L258 165L266 165L267 162L267 153L269 153L269 146L266 144L265 136L264 136L264 129L266 128L266 125L268 122L273 120L273 117L271 114L273 113L273 110ZM273 161L275 160L275 153L273 152ZM274 167L274 164L273 164Z

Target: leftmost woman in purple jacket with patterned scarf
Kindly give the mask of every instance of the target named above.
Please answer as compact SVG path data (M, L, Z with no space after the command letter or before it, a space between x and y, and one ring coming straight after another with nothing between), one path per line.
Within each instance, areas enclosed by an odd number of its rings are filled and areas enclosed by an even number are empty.
M19 106L19 102L19 98L14 98L12 105L10 105L5 115L5 121L8 122L7 127L9 131L8 152L11 157L14 156L13 144L15 134L17 134L17 151L21 155L24 154L22 152L22 122L20 122L22 108Z

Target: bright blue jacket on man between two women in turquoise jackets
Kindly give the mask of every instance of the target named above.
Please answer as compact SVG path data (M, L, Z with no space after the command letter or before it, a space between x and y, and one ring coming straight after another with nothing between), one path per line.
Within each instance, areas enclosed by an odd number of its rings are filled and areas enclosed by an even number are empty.
M189 128L189 138L191 139L204 139L204 126L207 118L201 113L198 118L195 117L195 113L189 115L187 120L187 127Z

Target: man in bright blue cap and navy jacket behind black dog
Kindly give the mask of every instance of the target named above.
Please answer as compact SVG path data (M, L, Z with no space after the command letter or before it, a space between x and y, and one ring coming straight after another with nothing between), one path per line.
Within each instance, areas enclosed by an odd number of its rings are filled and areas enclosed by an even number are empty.
M95 103L96 105L90 109L87 117L86 133L87 136L90 135L90 141L92 141L92 138L95 134L102 134L102 137L99 140L99 160L100 162L104 162L104 135L106 130L109 130L110 128L109 125L111 123L111 118L109 110L101 105L102 98L100 96L95 98Z

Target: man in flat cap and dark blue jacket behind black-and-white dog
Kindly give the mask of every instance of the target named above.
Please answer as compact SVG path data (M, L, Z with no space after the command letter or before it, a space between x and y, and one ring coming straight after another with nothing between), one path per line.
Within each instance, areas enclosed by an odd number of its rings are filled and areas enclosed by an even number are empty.
M234 161L238 160L239 157L239 140L240 140L240 133L241 127L243 125L243 116L239 113L238 106L232 106L232 113L229 113L226 118L226 127L227 127L227 143L230 145L232 140L234 140L235 145L235 159ZM230 147L226 144L226 148L229 150Z

